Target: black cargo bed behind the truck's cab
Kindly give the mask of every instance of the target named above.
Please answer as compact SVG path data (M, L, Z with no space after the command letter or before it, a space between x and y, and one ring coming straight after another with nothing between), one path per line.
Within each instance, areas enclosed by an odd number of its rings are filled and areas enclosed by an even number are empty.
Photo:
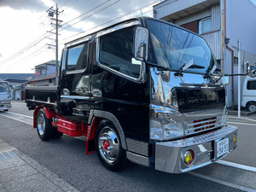
M27 86L26 87L26 106L34 109L38 105L47 107L57 106L57 86Z

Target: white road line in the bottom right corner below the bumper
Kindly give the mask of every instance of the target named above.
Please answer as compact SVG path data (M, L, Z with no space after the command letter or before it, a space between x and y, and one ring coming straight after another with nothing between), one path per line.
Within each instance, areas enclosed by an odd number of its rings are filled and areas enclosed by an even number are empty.
M195 176L195 177L201 177L201 178L207 179L207 180L212 181L212 182L215 182L215 183L224 184L224 185L229 186L229 187L231 187L231 188L241 189L241 190L248 191L248 192L256 192L255 189L250 189L250 188L247 188L247 187L238 185L238 184L229 183L229 182L220 180L220 179L218 179L218 178L214 178L214 177L209 177L209 176L203 175L203 174L198 173L198 172L188 172L188 173L189 173L190 175Z

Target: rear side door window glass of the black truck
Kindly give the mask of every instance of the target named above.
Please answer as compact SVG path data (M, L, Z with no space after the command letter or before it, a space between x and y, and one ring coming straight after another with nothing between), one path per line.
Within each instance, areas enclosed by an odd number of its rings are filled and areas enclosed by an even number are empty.
M67 71L84 70L88 60L88 42L67 49Z

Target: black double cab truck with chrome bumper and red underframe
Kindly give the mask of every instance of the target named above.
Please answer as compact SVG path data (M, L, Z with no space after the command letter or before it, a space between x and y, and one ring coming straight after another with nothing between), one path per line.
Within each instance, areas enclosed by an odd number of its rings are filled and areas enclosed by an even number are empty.
M84 136L111 171L130 160L182 173L237 146L227 80L199 35L140 17L65 44L58 84L26 87L26 105L42 140Z

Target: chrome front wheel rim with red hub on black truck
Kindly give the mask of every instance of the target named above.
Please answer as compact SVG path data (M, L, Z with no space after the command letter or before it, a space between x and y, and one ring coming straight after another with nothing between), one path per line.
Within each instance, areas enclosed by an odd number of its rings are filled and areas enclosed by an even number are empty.
M109 126L104 127L98 137L98 148L102 159L113 164L119 157L120 142L117 133Z

